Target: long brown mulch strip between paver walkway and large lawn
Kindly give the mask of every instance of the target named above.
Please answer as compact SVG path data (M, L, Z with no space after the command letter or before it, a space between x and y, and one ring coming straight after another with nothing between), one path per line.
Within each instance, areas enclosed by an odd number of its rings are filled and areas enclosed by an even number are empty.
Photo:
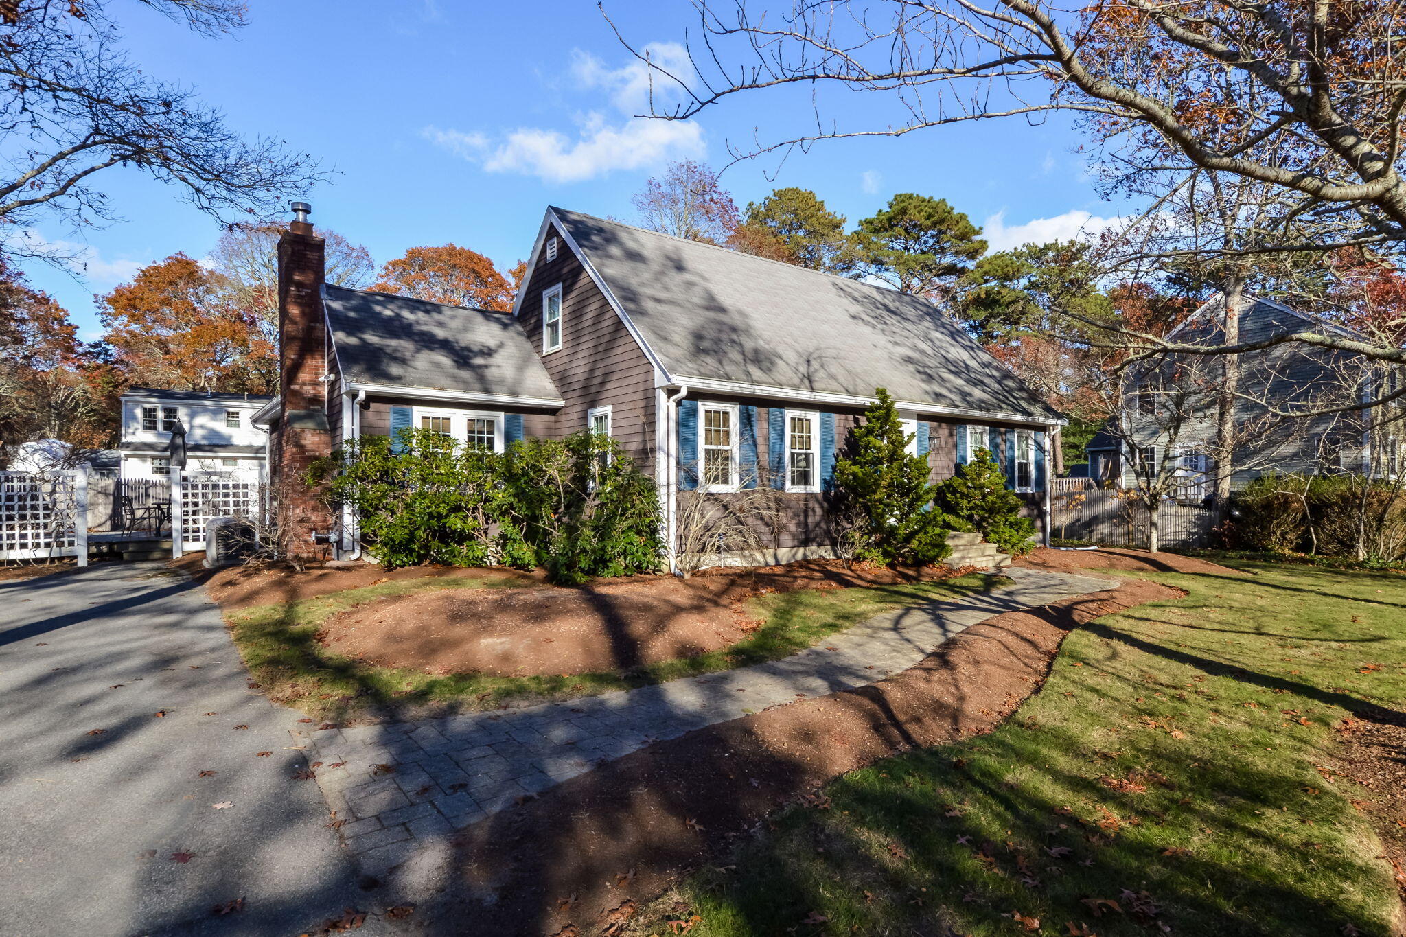
M418 915L492 934L621 933L645 902L797 795L815 798L807 792L908 747L988 732L1040 686L1071 628L1178 594L1130 582L998 615L880 683L603 764L460 833L463 878Z

